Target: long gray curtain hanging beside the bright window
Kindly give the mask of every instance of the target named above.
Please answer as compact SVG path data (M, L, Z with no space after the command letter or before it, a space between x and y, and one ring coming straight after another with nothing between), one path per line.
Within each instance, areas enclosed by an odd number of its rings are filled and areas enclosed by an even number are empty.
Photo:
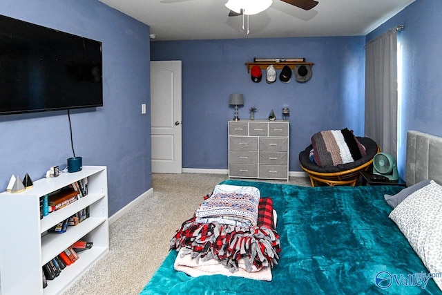
M397 159L397 32L365 45L365 136Z

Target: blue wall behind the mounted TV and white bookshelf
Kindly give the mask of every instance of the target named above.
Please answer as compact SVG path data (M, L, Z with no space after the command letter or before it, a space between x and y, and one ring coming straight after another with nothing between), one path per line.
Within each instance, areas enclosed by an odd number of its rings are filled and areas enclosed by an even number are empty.
M90 0L2 0L0 14L102 41L104 107L71 112L75 154L108 166L109 214L151 189L148 26ZM66 89L68 91L68 89ZM72 156L67 111L0 116L0 191Z

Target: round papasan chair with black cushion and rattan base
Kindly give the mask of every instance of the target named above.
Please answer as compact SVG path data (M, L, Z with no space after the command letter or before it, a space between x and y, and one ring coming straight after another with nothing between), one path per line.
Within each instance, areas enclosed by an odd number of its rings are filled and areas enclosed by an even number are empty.
M327 184L330 187L349 184L354 187L361 176L360 171L367 170L373 162L374 155L379 152L378 145L369 137L355 137L352 131L341 129L338 133L340 132L343 135L342 137L345 138L343 143L340 135L337 136L340 140L334 141L336 136L333 137L333 133L336 135L336 132L321 131L315 133L311 137L312 144L299 153L300 166L309 175L312 187L319 184ZM353 153L358 154L356 149L359 149L361 158L346 159L343 161L344 164L332 164L333 161L335 163L339 162L335 159L339 158L336 156L336 153L339 153L339 151L336 151L336 146L342 150L343 145L348 147L347 155L348 151L351 151L352 155ZM320 164L317 164L317 162L320 162Z

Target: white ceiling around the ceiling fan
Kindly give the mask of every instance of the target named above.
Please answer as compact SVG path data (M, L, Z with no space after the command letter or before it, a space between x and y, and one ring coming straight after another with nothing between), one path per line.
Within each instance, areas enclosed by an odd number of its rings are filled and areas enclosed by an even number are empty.
M151 27L155 40L367 35L414 0L318 0L308 11L273 0L249 19L228 17L227 0L99 0ZM398 23L399 25L399 23Z

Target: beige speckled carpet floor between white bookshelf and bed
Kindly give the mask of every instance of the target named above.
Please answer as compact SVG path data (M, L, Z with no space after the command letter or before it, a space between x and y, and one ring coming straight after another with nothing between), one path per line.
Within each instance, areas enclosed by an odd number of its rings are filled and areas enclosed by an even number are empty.
M175 231L191 218L202 197L227 178L223 174L153 173L153 194L110 225L108 254L64 295L139 294L169 253ZM310 186L310 180L292 177L289 184Z

